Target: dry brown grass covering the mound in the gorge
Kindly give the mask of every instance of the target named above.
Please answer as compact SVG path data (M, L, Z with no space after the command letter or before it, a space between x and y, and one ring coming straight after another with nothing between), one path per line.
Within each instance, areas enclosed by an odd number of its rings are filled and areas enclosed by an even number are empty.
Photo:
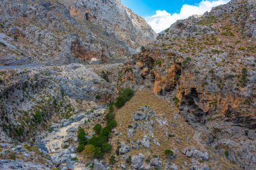
M143 90L137 91L135 93L135 96L130 101L128 101L123 106L123 108L117 110L117 130L119 132L122 132L123 135L113 136L111 138L111 142L113 144L113 151L111 154L106 156L106 161L109 159L110 155L115 155L118 140L122 140L126 144L129 144L129 140L136 141L137 139L142 139L143 134L146 134L147 131L144 130L143 132L141 132L140 130L136 129L133 138L127 138L126 132L128 126L132 123L133 114L141 106L144 105L149 105L152 108L152 110L158 113L158 116L161 116L162 118L168 120L168 125L166 125L168 133L174 134L174 137L168 139L164 135L163 127L159 126L158 123L155 123L154 135L150 136L150 148L143 148L143 146L140 146L139 150L133 149L129 153L127 153L127 155L137 155L138 153L143 153L143 155L146 156L146 159L148 157L152 158L154 155L158 155L164 163L164 160L166 160L166 157L164 156L164 150L174 150L174 148L177 148L179 150L179 153L177 155L177 158L173 160L173 163L180 167L181 165L183 165L184 161L187 161L188 163L190 163L191 161L191 159L185 157L185 155L181 153L181 151L183 151L183 148L187 146L195 146L195 148L198 148L201 151L207 151L207 149L205 149L203 145L199 142L199 139L197 139L198 135L195 134L195 130L193 130L193 128L189 126L187 122L183 120L183 118L179 116L177 121L173 121L175 109L170 108L170 104L167 101L156 96L150 90ZM175 124L175 126L172 126L173 123ZM156 144L152 142L153 136L154 138L158 139L158 141L161 144L160 146L156 146ZM180 143L176 141L177 139L180 140ZM208 150L208 152L210 152L210 155L214 155L214 151ZM120 161L121 157L122 156L119 156L117 158L117 161ZM211 167L216 167L215 169L230 169L231 165L225 162L225 158L223 160L218 159L218 165L214 165L214 162L210 159L210 161L207 161L207 164L210 165ZM117 165L118 164L119 163L117 163Z

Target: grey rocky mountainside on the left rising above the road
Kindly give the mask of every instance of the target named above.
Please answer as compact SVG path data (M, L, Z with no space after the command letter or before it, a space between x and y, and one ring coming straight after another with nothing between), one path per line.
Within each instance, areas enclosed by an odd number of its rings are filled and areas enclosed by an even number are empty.
M1 1L1 65L116 62L156 38L117 1Z

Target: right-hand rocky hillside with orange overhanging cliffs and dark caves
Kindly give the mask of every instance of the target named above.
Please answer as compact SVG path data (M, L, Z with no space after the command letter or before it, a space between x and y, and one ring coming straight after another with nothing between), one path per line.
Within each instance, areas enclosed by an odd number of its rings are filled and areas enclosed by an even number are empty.
M205 144L244 169L255 169L255 4L180 20L134 56L135 82L172 101Z

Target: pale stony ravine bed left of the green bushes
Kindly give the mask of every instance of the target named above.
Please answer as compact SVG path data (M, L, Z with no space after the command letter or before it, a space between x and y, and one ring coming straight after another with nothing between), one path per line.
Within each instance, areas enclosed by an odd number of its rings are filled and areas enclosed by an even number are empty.
M69 121L61 121L55 125L59 126L54 132L47 134L42 138L42 143L45 144L53 165L61 167L61 169L84 169L86 163L78 161L76 154L77 147L77 129L79 126L90 122L99 114L104 114L105 109L98 109L90 112L85 110L72 116Z

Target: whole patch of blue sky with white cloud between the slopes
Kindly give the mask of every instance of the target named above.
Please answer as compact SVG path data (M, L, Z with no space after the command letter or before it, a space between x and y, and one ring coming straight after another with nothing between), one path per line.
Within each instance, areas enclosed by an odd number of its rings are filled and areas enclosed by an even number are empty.
M178 19L203 15L212 7L230 0L121 0L137 15L144 17L155 32L162 32Z

